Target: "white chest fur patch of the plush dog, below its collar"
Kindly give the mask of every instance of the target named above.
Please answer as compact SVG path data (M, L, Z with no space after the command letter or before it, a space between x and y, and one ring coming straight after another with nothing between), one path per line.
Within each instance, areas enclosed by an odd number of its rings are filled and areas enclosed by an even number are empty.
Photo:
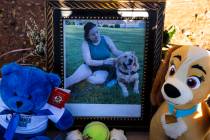
M185 124L182 118L178 118L177 122L175 123L167 124L165 120L165 115L166 114L162 115L161 117L161 124L167 136L176 139L177 137L181 136L187 131L187 125Z

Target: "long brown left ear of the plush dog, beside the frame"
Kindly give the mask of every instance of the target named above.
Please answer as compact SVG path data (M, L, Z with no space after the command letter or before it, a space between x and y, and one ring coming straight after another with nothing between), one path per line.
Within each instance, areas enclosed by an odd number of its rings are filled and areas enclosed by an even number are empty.
M171 44L171 48L169 48L164 60L162 60L160 67L157 71L156 77L153 81L153 86L150 94L150 100L152 105L159 106L163 102L163 96L161 94L161 88L163 83L165 82L165 75L168 71L169 60L171 58L171 54L173 51L181 47L180 45Z

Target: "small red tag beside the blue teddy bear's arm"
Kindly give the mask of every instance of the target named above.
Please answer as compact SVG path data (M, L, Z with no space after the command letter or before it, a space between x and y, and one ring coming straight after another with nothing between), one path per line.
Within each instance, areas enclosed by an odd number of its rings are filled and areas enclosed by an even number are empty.
M50 94L48 103L58 108L63 108L69 97L70 91L68 92L65 91L65 89L54 88Z

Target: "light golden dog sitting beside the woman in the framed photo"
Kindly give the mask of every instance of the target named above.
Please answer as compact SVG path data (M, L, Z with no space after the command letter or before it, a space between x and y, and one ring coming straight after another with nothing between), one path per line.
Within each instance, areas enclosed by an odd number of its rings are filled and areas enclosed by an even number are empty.
M139 63L133 52L125 52L116 60L117 81L124 97L128 97L126 84L134 82L133 92L139 94Z

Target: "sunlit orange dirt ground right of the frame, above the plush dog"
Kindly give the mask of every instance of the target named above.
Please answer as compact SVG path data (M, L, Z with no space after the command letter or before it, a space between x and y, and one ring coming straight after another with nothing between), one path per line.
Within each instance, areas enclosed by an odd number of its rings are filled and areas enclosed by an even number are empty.
M175 44L210 49L210 0L167 0L165 29L175 25Z

